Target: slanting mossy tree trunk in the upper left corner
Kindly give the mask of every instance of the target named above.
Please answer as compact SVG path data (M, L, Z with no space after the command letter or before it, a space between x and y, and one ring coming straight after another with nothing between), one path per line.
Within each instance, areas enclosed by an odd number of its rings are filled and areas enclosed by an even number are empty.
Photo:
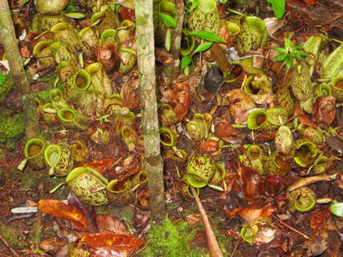
M27 81L24 73L18 41L14 33L14 24L11 19L11 11L6 0L0 0L0 37L4 45L7 61L9 61L15 89L21 94L26 126L25 133L28 138L32 138L39 134L39 117L29 81Z

